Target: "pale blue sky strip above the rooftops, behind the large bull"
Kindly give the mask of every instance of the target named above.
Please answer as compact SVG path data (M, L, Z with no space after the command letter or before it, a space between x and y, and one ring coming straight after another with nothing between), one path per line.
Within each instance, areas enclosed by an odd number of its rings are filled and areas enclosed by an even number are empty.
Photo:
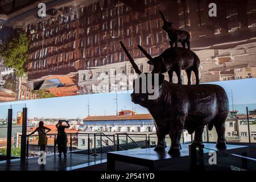
M209 83L208 83L209 84ZM256 78L211 82L222 86L231 101L231 90L233 90L234 104L256 104ZM130 93L122 92L117 94L118 110L133 107L137 113L148 113L147 109L131 102ZM90 115L114 115L116 110L115 93L88 94L82 96L56 97L30 101L5 102L0 104L0 118L6 115L6 109L12 105L16 113L22 110L26 104L28 107L28 118L85 118L88 115L88 98L90 105ZM254 107L251 106L251 107ZM230 107L232 109L232 107ZM235 108L236 109L236 108ZM256 109L250 108L249 109Z

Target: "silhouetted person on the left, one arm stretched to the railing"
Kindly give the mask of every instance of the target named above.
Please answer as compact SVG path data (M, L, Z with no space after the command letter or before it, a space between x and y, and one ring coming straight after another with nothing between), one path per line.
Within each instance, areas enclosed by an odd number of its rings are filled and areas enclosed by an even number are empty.
M48 131L46 131L48 130ZM46 152L46 145L47 145L47 133L49 131L51 131L51 129L49 129L48 127L44 126L44 122L40 121L39 122L39 126L29 135L27 135L27 137L30 137L32 134L36 133L36 131L38 132L39 138L38 138L38 146L40 146L40 151L44 151Z

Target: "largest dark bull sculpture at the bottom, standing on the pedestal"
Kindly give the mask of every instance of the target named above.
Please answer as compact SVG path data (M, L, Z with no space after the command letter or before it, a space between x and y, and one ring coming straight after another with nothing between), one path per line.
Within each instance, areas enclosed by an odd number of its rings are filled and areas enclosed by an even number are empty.
M180 154L180 138L183 129L187 129L189 134L195 132L193 144L200 146L203 144L204 126L208 125L208 129L216 128L218 139L216 147L225 148L225 120L229 112L229 102L225 90L218 85L179 85L172 84L164 80L164 75L159 73L142 73L133 58L123 47L127 57L135 72L139 75L134 82L141 79L141 75L145 74L147 81L139 81L139 86L145 86L146 93L139 91L131 94L131 100L135 104L146 107L154 118L156 127L156 135L158 143L155 151L164 151L166 147L165 138L169 134L171 138L171 147L168 151L171 155ZM158 75L159 74L159 75ZM148 92L148 79L154 80L158 75L158 86L154 84L154 90L158 90L158 97L149 100L151 93ZM152 78L154 77L154 78ZM138 83L138 82L137 82ZM134 84L134 90L135 84ZM141 89L139 89L141 90Z

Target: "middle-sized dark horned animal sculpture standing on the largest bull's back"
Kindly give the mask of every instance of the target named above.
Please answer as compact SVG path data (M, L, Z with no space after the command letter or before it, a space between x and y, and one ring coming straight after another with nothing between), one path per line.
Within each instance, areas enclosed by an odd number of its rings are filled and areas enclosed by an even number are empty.
M147 57L147 63L154 65L152 73L168 72L169 81L172 83L172 76L175 72L178 78L178 84L182 84L181 70L185 70L188 77L188 85L191 85L191 72L193 71L196 76L196 84L200 84L200 59L195 52L183 47L175 47L168 48L161 55L153 58L141 46L138 45L138 47Z

